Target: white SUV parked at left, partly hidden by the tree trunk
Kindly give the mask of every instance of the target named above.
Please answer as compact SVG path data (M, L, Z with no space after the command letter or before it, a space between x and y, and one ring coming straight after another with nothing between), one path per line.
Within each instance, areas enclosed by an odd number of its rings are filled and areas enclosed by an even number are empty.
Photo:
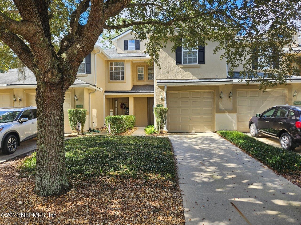
M36 107L0 108L0 149L12 154L20 143L37 136Z

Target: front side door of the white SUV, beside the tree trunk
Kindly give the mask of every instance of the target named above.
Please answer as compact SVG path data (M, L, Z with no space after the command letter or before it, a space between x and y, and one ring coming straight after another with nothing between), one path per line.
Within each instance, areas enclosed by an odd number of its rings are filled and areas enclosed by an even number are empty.
M26 122L19 123L20 141L23 141L24 139L30 138L36 134L36 121L33 119L29 110L25 110L19 120L21 118L29 119Z

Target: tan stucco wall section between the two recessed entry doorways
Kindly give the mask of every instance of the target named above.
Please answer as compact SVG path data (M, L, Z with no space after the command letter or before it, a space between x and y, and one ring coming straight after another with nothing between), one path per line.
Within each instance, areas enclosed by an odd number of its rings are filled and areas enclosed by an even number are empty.
M136 126L147 126L147 98L135 98Z

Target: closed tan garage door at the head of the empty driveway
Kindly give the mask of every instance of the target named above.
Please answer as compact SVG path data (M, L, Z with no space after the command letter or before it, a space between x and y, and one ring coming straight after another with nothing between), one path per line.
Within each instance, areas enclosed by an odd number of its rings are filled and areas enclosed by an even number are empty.
M214 91L168 91L169 132L214 132Z

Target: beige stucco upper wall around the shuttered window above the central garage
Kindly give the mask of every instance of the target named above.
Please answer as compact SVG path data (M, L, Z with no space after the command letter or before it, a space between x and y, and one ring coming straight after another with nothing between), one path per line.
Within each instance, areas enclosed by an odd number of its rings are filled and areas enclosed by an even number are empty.
M225 78L227 66L225 59L220 60L220 53L213 54L217 42L208 42L205 46L205 64L176 65L175 52L171 51L172 42L159 52L159 64L156 65L156 79L204 79L204 78Z

